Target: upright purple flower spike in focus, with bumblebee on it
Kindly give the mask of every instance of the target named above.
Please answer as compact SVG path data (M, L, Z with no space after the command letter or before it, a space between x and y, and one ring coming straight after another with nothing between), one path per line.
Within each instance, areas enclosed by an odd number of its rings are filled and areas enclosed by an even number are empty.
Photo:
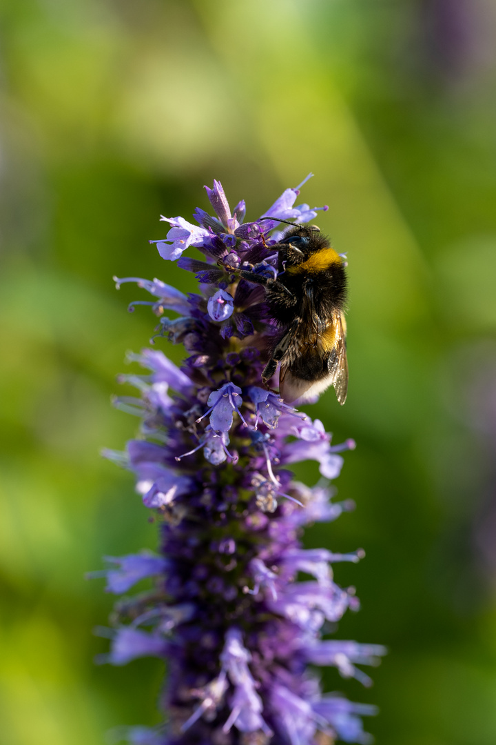
M318 420L286 405L261 382L277 328L264 289L236 269L277 276L278 219L309 221L315 209L294 206L286 189L265 216L243 223L222 186L207 195L215 216L197 209L193 226L162 218L171 228L154 241L164 259L196 274L201 294L187 297L158 279L135 281L156 299L158 335L183 343L179 369L163 352L132 355L149 372L123 375L139 397L116 404L142 420L141 437L126 452L106 455L135 473L137 491L161 525L160 555L109 559L109 592L127 592L152 577L152 589L115 608L109 662L138 656L167 660L163 708L167 723L132 728L141 745L323 745L366 743L360 715L372 706L322 694L309 665L333 665L341 676L370 679L384 648L323 639L327 622L357 609L353 589L333 580L333 562L356 562L363 552L333 554L302 548L305 524L336 519L349 502L332 501L339 451ZM204 261L179 258L198 248ZM246 276L246 275L244 275ZM309 488L294 481L292 463L316 460L323 477ZM309 577L297 581L302 573ZM96 573L99 574L99 573Z

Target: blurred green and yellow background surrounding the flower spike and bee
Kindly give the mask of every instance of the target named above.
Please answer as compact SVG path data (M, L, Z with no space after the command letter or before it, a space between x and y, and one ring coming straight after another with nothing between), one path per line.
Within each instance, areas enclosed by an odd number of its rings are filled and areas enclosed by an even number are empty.
M103 744L158 721L152 660L95 667L112 597L85 571L155 548L135 432L109 405L147 343L144 292L193 289L148 238L222 181L248 219L303 200L350 261L350 393L309 407L357 510L309 545L364 546L387 644L364 691L379 745L496 741L496 7L491 0L4 0L1 15L1 742ZM180 350L161 343L180 360ZM302 475L300 469L299 475ZM303 474L315 480L312 469Z

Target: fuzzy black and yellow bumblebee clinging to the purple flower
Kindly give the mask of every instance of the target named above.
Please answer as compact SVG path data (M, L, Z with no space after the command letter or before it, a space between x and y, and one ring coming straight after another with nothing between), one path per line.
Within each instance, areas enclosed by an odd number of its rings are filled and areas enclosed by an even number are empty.
M280 364L280 395L286 402L312 398L333 385L338 402L344 404L345 263L317 226L289 224L282 240L270 247L278 253L277 279L259 275L254 280L253 273L240 272L249 282L265 285L271 316L280 327L262 379L266 384Z

